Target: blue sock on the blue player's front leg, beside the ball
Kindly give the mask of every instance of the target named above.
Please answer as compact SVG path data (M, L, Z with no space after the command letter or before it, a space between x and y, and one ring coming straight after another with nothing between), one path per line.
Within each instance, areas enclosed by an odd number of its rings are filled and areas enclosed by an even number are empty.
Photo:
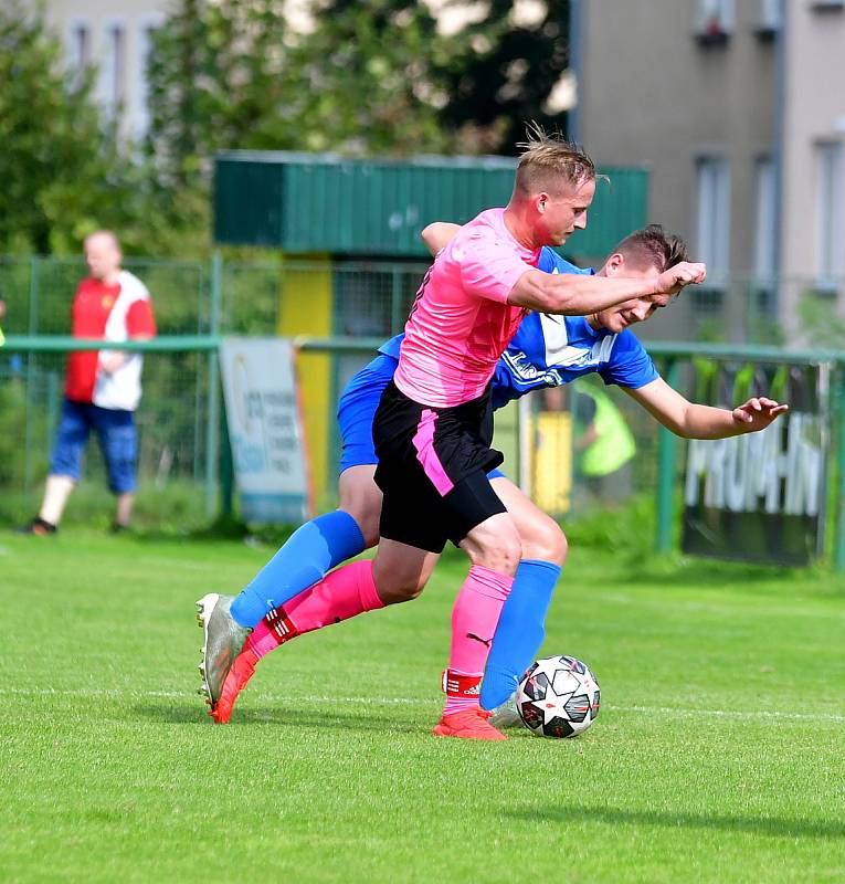
M482 708L495 709L516 691L546 638L546 614L560 577L551 561L524 559L501 609L482 682Z

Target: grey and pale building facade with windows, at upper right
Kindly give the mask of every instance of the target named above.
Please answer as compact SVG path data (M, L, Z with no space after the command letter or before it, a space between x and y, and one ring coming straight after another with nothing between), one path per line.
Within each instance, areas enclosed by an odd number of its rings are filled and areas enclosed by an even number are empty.
M842 303L845 2L573 0L572 24L572 134L649 168L649 220L709 267L646 335L793 337L803 294Z

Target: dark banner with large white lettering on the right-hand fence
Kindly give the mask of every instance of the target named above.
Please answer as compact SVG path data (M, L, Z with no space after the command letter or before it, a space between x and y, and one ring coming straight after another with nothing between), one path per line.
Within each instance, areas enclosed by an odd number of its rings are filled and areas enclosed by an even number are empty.
M696 400L735 408L753 396L788 402L767 430L691 440L683 549L697 556L807 565L824 537L828 444L825 366L697 366Z

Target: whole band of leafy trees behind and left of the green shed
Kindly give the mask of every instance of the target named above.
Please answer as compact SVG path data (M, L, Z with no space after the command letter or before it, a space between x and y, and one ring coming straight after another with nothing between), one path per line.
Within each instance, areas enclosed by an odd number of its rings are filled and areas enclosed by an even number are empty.
M479 4L476 4L479 6ZM150 131L118 137L23 0L0 8L0 253L75 252L95 228L128 253L209 246L210 169L230 148L351 155L509 152L545 113L566 62L567 0L482 3L444 34L425 3L177 0L154 35Z

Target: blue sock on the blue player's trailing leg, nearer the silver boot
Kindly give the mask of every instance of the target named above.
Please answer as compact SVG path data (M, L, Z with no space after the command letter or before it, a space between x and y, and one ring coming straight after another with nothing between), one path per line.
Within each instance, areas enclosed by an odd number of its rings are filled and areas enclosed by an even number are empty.
M365 549L358 523L342 509L306 522L232 602L232 617L242 627L257 625L274 608Z

